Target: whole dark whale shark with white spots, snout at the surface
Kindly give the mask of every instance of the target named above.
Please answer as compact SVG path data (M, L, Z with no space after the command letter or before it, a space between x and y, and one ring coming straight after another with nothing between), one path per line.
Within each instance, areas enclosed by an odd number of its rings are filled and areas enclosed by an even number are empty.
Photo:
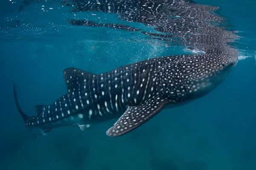
M63 72L67 94L50 105L35 106L27 116L15 102L26 126L44 135L52 128L78 125L81 130L119 118L106 134L122 136L164 108L184 105L209 94L236 65L236 49L216 54L156 57L102 74L78 68Z

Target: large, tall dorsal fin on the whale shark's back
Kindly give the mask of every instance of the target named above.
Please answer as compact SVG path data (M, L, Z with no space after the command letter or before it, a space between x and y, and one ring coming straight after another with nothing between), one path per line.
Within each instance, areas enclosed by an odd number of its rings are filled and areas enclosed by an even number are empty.
M96 79L97 75L78 68L66 68L63 71L63 76L67 85L67 96L69 97L79 88L86 88L92 82L93 78Z

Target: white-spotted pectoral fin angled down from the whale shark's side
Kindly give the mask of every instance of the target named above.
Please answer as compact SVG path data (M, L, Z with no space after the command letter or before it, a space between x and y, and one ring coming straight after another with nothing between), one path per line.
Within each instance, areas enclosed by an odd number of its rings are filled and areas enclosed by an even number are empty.
M122 136L136 129L159 113L169 102L169 99L155 97L147 100L142 105L128 107L113 127L108 129L106 134L111 137Z

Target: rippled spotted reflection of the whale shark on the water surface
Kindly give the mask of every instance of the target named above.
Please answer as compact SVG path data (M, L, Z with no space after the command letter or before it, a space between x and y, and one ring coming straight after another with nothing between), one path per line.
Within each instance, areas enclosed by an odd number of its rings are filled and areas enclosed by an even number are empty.
M76 6L76 11L101 11L119 14L119 19L128 22L154 26L159 33L143 31L151 39L172 42L174 45L186 45L192 49L207 53L225 51L226 43L233 42L238 36L211 23L224 23L224 19L211 11L219 7L193 3L190 0L69 0ZM88 24L91 21L72 20L77 25L103 26ZM76 25L76 24L74 24ZM116 28L111 24L110 28ZM126 26L129 27L129 26ZM134 28L135 30L136 28ZM165 33L165 34L161 34ZM166 34L167 33L167 34Z

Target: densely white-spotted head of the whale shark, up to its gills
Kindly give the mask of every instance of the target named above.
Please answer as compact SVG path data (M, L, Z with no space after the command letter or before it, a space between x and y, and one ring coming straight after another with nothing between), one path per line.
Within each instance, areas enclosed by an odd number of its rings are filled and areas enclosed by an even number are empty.
M230 49L229 53L178 56L182 59L164 65L154 72L158 90L175 102L208 94L237 64L235 51Z

